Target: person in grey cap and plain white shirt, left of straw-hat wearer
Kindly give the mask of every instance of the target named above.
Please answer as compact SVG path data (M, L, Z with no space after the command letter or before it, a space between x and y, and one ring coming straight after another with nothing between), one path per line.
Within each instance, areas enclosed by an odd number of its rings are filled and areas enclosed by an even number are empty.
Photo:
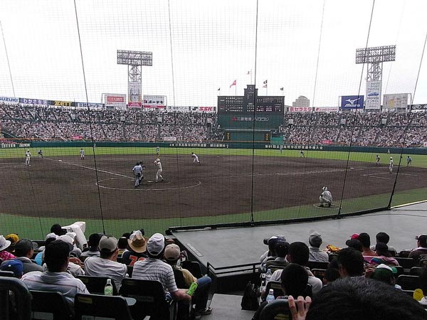
M110 277L114 280L117 290L126 277L127 267L117 262L117 239L104 235L99 244L100 257L87 257L85 259L85 274L98 277Z

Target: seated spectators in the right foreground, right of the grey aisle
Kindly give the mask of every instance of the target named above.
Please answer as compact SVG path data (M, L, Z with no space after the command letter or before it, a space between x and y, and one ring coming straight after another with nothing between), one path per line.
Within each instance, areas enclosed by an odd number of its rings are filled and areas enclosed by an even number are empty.
M369 234L354 233L347 247L320 250L322 235L316 231L307 244L289 243L284 235L265 239L268 250L260 256L263 302L253 320L273 319L272 312L279 311L295 320L426 319L427 235L416 236L416 247L399 253L389 240L379 232L371 244ZM278 287L279 293L272 289ZM268 302L267 294L274 295L275 303Z

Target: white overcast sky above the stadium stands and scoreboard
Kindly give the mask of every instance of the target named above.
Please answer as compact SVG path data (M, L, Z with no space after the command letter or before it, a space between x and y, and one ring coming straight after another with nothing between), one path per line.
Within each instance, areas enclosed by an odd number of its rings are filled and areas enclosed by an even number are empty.
M89 102L127 93L123 49L152 51L142 94L167 95L168 105L216 106L218 94L243 95L252 80L259 95L285 95L286 105L304 95L332 107L341 95L364 95L357 48L396 45L383 94L415 92L415 103L427 103L427 1L376 0L368 36L372 5L259 0L257 32L255 0L76 0L78 20L73 0L1 0L0 96L14 96L6 50L16 97L85 102L83 65Z

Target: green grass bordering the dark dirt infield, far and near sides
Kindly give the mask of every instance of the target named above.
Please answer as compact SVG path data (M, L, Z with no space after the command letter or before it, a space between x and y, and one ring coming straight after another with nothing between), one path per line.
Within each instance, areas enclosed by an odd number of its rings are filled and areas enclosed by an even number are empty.
M38 149L30 148L31 154L37 156ZM52 147L44 148L44 156L70 156L75 155L79 157L79 147ZM299 157L299 150L283 150L280 153L279 150L272 149L191 149L191 148L164 148L160 150L162 154L176 154L176 155L188 155L191 151L195 151L201 159L203 155L223 155L223 156L278 156L278 157ZM24 149L0 149L0 158L2 159L13 159L21 158L24 159ZM331 160L347 160L349 156L350 161L362 161L362 162L374 162L374 153L364 152L353 152L348 154L343 151L304 151L305 156L317 159L331 159ZM93 156L93 149L85 148L86 156ZM139 155L155 155L155 148L147 147L97 147L95 149L97 155L107 154L139 154ZM393 156L395 166L398 164L398 154L380 154L381 163L388 164L389 157ZM413 159L413 166L427 168L427 156L423 155L411 155ZM403 156L402 165L406 166L406 155ZM416 201L426 200L427 188L413 189L402 193L396 193L394 195L391 206L399 206L406 203L412 203ZM390 194L381 194L363 198L352 198L342 201L341 213L352 213L361 210L372 209L373 203L376 207L386 207L389 203ZM339 203L337 203L338 205ZM253 213L255 221L262 220L285 220L292 218L310 218L312 216L320 215L332 215L338 212L338 208L323 209L315 206L296 206L290 208L280 208L275 210L266 210ZM20 236L31 238L31 239L43 239L44 235L48 233L53 223L60 222L62 225L70 224L75 222L75 219L66 218L34 218L27 216L11 215L8 213L1 213L1 232L11 233L16 230L19 225L21 231ZM199 218L162 218L162 219L117 219L117 220L100 220L100 219L85 219L87 224L86 234L99 232L105 228L106 233L113 234L117 237L125 232L126 230L131 231L135 228L144 227L147 235L159 230L166 230L169 226L183 226L183 225L209 225L216 224L221 220L221 223L235 223L236 221L248 222L251 219L251 213L241 213L232 215L221 215L218 217L199 217ZM104 224L102 227L102 223Z

